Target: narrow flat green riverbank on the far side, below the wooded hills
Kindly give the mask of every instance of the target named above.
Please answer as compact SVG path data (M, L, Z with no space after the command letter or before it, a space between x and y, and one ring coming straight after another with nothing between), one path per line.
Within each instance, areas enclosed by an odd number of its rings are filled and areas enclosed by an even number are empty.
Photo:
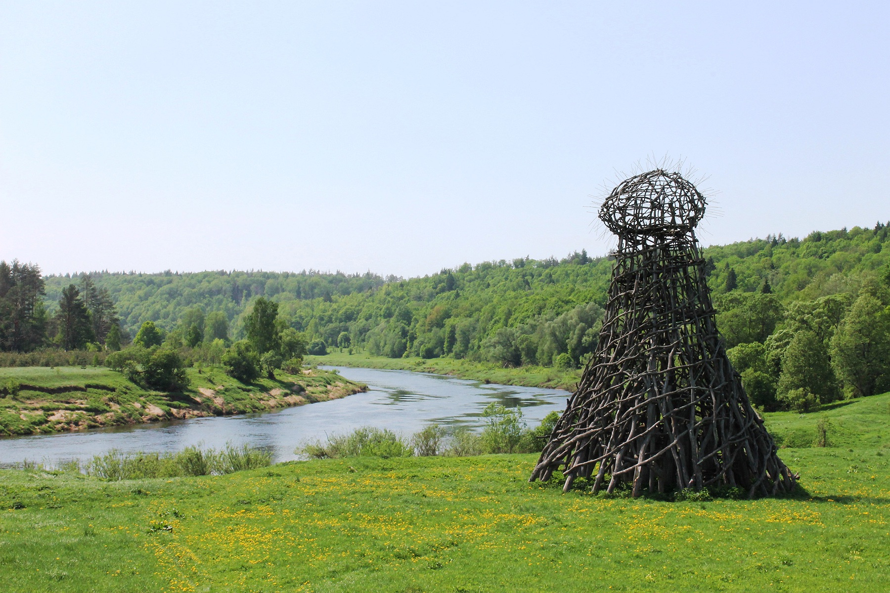
M372 357L364 352L354 354L331 352L323 357L306 357L306 362L312 365L359 366L368 369L438 373L458 379L566 391L574 391L575 385L581 380L580 369L561 371L552 366L504 368L493 363L477 363L455 358L386 358Z

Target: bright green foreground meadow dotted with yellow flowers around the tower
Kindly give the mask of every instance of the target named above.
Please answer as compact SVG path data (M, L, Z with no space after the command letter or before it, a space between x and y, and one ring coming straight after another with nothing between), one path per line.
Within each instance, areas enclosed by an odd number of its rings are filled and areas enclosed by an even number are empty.
M4 470L0 587L890 590L890 394L769 421L788 437L823 415L849 429L837 432L843 448L781 451L809 491L799 499L562 494L525 481L534 455L305 461L118 483ZM869 427L861 440L859 422Z

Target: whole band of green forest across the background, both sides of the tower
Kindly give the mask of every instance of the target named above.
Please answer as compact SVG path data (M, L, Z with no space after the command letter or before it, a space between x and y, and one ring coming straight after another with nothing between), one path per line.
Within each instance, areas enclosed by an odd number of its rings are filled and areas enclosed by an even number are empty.
M887 235L878 223L704 250L718 327L756 405L806 412L890 389ZM146 322L187 362L219 362L260 343L248 335L260 303L274 305L274 335L289 330L310 354L578 367L596 346L611 267L611 257L585 251L410 279L316 270L44 277L34 264L3 262L0 349L30 357L0 354L0 364L40 364L58 352L104 361Z

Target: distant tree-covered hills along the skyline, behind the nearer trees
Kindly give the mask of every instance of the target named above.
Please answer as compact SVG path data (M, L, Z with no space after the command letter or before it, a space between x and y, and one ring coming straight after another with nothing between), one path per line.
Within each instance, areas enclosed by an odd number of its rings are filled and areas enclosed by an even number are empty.
M856 294L890 262L887 228L813 232L803 239L770 236L705 249L716 295L725 292L730 270L739 292L756 292L766 280L783 302L813 301L837 293ZM347 333L353 347L372 353L414 356L497 357L499 329L532 337L520 364L553 364L554 355L576 360L592 348L578 333L600 311L572 312L590 303L603 306L611 275L609 258L573 253L563 260L487 261L403 280L392 276L322 274L315 271L109 274L93 272L109 290L131 335L144 321L170 331L187 311L220 310L241 335L241 317L253 299L278 301L280 312L310 339L336 346ZM76 276L47 276L45 301L52 311L61 289ZM560 316L565 316L560 319ZM558 321L557 321L558 319ZM595 323L595 322L594 322ZM487 342L488 340L488 342ZM532 360L533 359L533 360Z

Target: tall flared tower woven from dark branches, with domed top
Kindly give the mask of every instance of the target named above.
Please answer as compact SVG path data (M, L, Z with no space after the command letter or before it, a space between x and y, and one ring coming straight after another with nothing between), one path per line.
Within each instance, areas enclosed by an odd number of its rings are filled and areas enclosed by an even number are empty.
M748 497L794 488L717 333L694 228L706 200L656 169L611 191L599 218L619 236L603 330L530 481L633 495L708 486Z

